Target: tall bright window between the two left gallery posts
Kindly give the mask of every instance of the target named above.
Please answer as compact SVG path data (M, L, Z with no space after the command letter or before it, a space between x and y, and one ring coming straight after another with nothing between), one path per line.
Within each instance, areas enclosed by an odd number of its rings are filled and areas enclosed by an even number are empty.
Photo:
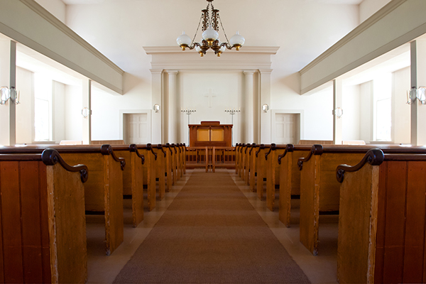
M35 74L34 141L52 141L52 80Z

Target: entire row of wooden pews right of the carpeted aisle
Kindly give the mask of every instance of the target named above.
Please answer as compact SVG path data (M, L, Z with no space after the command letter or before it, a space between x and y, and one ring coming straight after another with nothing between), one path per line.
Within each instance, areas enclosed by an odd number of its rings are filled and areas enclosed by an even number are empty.
M339 214L339 283L425 283L426 148L236 145L236 174L320 253L320 214Z

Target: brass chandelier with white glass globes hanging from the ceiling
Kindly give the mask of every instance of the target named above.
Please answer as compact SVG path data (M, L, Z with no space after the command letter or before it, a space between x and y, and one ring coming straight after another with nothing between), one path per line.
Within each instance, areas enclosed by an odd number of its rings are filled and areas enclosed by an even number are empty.
M207 0L207 8L201 10L201 18L198 23L197 31L195 32L194 38L191 38L185 34L185 31L178 37L176 40L178 45L185 50L185 48L189 48L190 50L194 49L197 53L200 53L201 56L206 54L207 50L212 48L214 50L214 54L220 56L226 48L232 49L236 48L239 50L244 42L246 41L242 35L237 31L235 35L231 37L231 40L228 40L226 36L224 26L222 25L222 20L219 16L219 10L214 9L213 0ZM200 29L200 25L202 23L202 41L201 43L195 43L195 37L197 36L198 30ZM226 42L221 43L219 40L219 23L224 32Z

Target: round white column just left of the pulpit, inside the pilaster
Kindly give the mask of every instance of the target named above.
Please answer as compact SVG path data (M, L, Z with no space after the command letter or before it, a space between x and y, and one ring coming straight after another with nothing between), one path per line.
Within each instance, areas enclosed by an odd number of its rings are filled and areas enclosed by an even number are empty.
M167 70L168 72L168 142L178 143L176 141L176 96L178 70Z

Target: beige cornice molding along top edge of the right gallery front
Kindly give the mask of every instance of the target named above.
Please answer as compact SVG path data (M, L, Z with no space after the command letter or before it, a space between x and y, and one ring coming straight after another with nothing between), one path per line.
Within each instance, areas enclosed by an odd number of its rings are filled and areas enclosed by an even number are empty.
M322 62L322 60L329 57L329 55L332 55L332 53L339 50L339 48L342 48L342 46L346 45L346 43L349 43L349 41L353 40L358 35L360 35L364 31L366 31L368 28L373 26L374 23L376 23L377 21L380 21L381 18L387 16L388 13L391 13L393 10L397 9L398 6L403 4L405 1L408 1L408 0L393 0L393 1L389 2L388 4L386 4L386 6L384 6L382 9L380 9L379 11L374 13L373 16L366 19L366 21L362 22L359 26L354 28L354 30L352 30L350 33L345 35L341 40L339 40L337 43L332 45L331 48L324 51L324 53L322 53L320 56L315 58L315 60L312 60L312 62L310 62L305 67L303 67L302 70L299 71L300 75L303 75L305 72L310 70L312 67L315 67L315 65Z

